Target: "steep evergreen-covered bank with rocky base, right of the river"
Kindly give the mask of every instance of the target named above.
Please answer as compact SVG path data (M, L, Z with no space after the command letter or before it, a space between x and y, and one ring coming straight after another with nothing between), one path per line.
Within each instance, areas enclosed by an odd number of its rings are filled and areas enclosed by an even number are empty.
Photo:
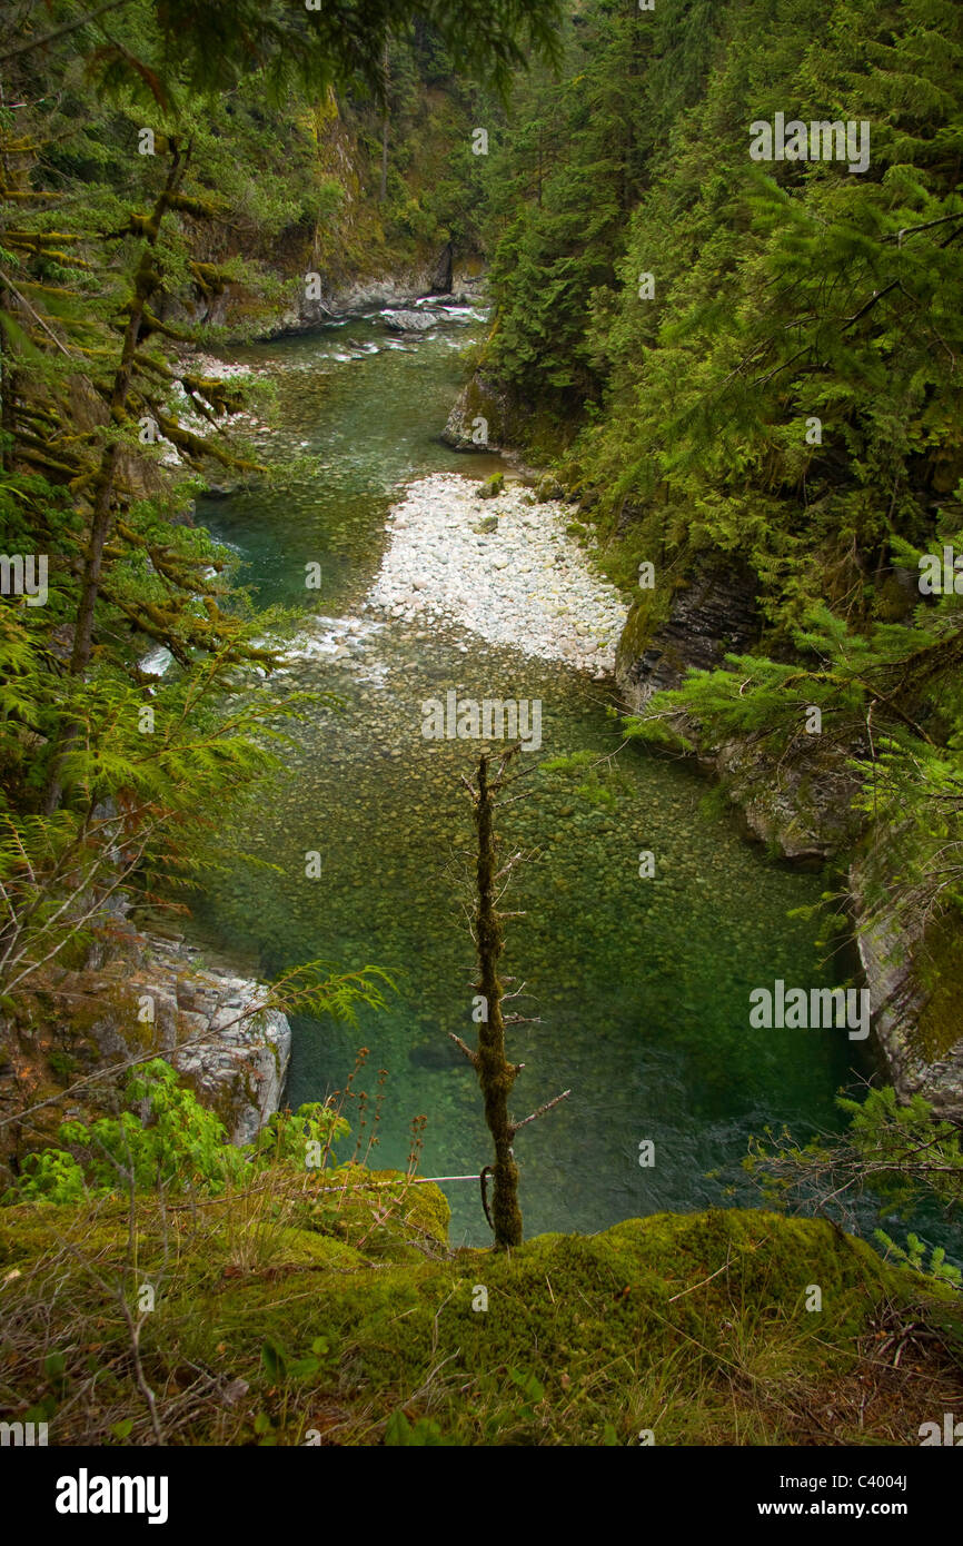
M495 326L447 433L556 458L620 578L651 566L632 711L756 657L691 747L756 836L830 864L890 1078L963 1118L960 581L917 569L963 546L963 12L832 11L580 8L496 169Z

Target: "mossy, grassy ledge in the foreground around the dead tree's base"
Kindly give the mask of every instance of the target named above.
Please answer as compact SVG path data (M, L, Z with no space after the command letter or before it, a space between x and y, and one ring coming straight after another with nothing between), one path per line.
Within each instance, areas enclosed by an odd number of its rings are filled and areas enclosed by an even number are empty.
M0 1209L2 1416L51 1444L918 1444L963 1398L958 1296L829 1223L451 1252L434 1186L343 1173L323 1204L269 1173Z

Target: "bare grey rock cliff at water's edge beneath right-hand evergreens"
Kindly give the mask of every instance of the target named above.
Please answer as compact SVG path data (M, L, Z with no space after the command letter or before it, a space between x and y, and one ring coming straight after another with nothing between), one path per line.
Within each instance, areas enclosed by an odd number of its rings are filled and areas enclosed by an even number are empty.
M668 601L646 598L632 608L617 654L618 686L631 711L645 716L654 693L679 686L689 668L719 668L728 652L750 651L757 637L753 577L728 561L702 560ZM787 858L846 872L887 1078L904 1099L923 1095L941 1116L963 1121L963 1016L938 986L952 980L948 925L909 928L892 911L870 906L876 861L853 810L856 782L846 751L813 736L776 761L750 739L713 742L682 719L679 728L753 836Z

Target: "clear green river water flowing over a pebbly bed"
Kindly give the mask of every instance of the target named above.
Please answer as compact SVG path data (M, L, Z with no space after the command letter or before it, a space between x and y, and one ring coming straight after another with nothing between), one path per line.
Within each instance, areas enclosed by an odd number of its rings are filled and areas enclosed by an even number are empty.
M541 697L549 754L603 756L621 741L606 713L612 683L458 629L376 628L360 611L399 490L430 472L478 478L501 465L437 439L478 328L462 315L399 348L379 318L351 318L235 351L277 380L280 428L264 448L292 472L198 510L240 553L260 601L306 612L284 686L343 699L340 713L311 711L286 776L238 833L278 869L219 877L198 921L213 948L261 974L325 957L397 977L388 1013L363 1013L359 1027L294 1022L288 1102L342 1087L368 1047L360 1084L373 1090L388 1071L371 1163L403 1167L411 1118L425 1113L424 1175L478 1173L490 1144L475 1076L447 1036L473 1034L461 908L473 832L459 773L478 748L424 741L420 702L450 688ZM305 455L322 470L298 468ZM309 561L322 564L320 592L305 589ZM821 965L813 926L788 917L815 901L819 878L767 860L734 821L700 815L706 785L685 764L629 745L617 768L611 807L584 799L572 776L535 775L532 796L502 816L505 852L532 853L505 903L526 917L510 921L504 969L530 994L516 1008L541 1020L512 1031L510 1056L526 1064L513 1115L572 1090L516 1141L527 1234L745 1201L748 1136L767 1124L799 1136L838 1127L833 1096L867 1068L842 1030L748 1027L753 986L839 979ZM655 853L654 880L638 877L640 849ZM320 880L305 875L306 850L322 853ZM652 1167L638 1163L645 1139ZM487 1243L478 1186L445 1190L453 1243Z

